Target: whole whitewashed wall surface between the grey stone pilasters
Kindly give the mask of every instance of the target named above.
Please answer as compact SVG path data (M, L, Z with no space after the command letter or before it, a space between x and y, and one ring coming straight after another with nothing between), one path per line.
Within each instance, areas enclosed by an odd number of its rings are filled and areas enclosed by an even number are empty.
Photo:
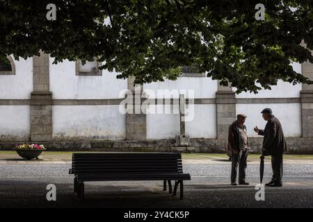
M0 99L31 99L33 58L27 60L20 58L14 62L15 75L0 75ZM127 79L117 79L117 73L104 70L102 76L77 76L75 62L65 60L57 65L52 65L52 62L53 58L50 58L49 89L53 99L118 99L121 98L120 92L127 89ZM295 71L301 72L299 64L292 65ZM178 98L182 92L186 92L188 98L191 96L188 90L193 90L195 99L214 99L218 83L207 77L180 77L174 81L145 84L143 89L150 90L156 95L158 89L167 89L166 95L177 90L178 94L175 94L174 98ZM236 98L299 98L301 90L302 85L279 81L272 90L264 89L258 94L243 92L236 94ZM0 135L8 136L7 138L28 137L31 128L30 106L4 104L0 105ZM157 105L159 108L162 106ZM155 107L151 105L152 109ZM193 119L186 122L186 135L191 138L216 139L216 104L196 104L193 107ZM266 107L271 108L280 119L286 137L301 137L300 103L237 103L236 114L248 115L246 126L249 137L258 137L253 131L255 126L264 128L266 121L262 119L260 112ZM119 112L118 105L53 105L52 127L56 140L66 138L120 140L126 137L126 117ZM175 138L179 131L178 113L147 114L147 139Z

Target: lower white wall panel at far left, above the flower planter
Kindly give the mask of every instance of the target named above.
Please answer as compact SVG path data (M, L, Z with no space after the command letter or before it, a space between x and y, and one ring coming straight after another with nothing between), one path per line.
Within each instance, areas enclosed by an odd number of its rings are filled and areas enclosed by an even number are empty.
M0 105L0 139L27 139L31 133L30 114L29 105Z

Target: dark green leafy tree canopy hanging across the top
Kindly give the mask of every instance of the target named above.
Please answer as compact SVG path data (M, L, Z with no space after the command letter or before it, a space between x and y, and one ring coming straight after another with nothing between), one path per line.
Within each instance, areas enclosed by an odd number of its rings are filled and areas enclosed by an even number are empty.
M56 20L47 19L47 5ZM255 5L265 6L264 20ZM306 48L300 45L304 41ZM313 63L311 0L0 0L0 60L49 53L56 62L103 62L135 83L175 80L183 66L257 92L278 80L312 81L292 62Z

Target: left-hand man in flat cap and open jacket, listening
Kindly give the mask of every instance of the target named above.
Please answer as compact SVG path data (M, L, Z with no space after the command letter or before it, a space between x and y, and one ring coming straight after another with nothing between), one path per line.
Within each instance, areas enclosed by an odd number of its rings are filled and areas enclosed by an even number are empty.
M245 114L238 114L236 121L228 128L228 149L232 151L231 185L236 184L236 176L239 165L239 185L249 185L246 182L246 167L248 155L247 128L243 123L246 121Z

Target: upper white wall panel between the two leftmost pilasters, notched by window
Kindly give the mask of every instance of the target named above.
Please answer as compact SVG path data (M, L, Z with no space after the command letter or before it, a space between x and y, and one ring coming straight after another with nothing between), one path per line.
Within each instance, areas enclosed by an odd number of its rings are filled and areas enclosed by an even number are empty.
M76 76L75 62L64 60L53 65L49 58L50 91L53 99L118 99L127 89L127 79L102 70L102 76Z

